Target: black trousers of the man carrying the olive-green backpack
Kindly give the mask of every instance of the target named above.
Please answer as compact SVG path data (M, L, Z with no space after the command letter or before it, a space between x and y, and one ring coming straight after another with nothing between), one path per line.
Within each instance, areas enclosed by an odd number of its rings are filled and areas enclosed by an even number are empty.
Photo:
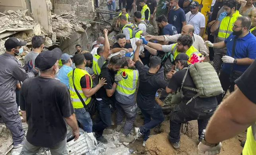
M192 104L192 103L189 103ZM198 140L208 124L210 117L213 115L215 108L191 108L186 103L177 104L170 115L170 132L169 140L171 143L180 141L180 127L182 123L197 120L198 122Z

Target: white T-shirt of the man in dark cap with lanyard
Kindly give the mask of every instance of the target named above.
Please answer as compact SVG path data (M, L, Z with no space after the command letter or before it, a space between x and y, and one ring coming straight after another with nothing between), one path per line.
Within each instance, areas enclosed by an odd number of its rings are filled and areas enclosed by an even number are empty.
M193 15L191 11L189 11L186 14L186 24L193 25L195 29L194 34L199 35L200 28L206 27L206 18L200 12L196 13L196 15Z

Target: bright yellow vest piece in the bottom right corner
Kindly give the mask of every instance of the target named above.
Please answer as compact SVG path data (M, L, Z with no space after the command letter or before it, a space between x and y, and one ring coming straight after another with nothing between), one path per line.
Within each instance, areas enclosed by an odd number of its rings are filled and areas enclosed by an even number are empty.
M255 155L256 154L256 124L248 127L246 134L246 142L242 155Z

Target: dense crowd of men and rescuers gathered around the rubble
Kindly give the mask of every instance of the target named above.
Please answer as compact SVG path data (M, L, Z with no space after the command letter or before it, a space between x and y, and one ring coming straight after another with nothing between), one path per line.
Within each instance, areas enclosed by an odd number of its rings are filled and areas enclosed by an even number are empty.
M150 129L164 121L161 106L171 95L176 105L170 113L168 139L175 149L180 147L182 123L197 120L198 154L219 153L221 141L246 128L242 154L255 154L255 1L213 0L206 42L202 38L205 16L192 0L159 0L158 4L134 0L131 6L126 2L126 8L120 0L116 27L121 33L112 47L107 29L88 47L90 52L77 44L74 55L59 48L43 51L45 38L34 36L23 67L15 56L23 52L26 42L9 38L6 52L0 55L0 116L12 132L14 148L23 147L24 155L33 155L40 147L50 148L53 155L67 155L66 123L75 140L80 127L106 144L103 130L113 122L121 132L120 142L143 137L145 147ZM112 9L113 2L108 1ZM135 5L141 10L134 12L136 23L131 23L129 13ZM147 34L149 23L155 35ZM136 47L133 38L138 38ZM111 56L122 50L124 56ZM207 56L209 63L202 62ZM228 90L231 95L223 101ZM28 124L26 136L18 107ZM134 128L138 113L144 124Z

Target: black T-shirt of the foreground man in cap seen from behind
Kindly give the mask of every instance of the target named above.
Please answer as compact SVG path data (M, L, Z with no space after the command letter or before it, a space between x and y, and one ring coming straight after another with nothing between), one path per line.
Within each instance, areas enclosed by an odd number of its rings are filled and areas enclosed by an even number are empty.
M27 115L27 141L52 147L66 138L64 117L74 113L68 87L57 79L34 77L23 82L20 109Z

